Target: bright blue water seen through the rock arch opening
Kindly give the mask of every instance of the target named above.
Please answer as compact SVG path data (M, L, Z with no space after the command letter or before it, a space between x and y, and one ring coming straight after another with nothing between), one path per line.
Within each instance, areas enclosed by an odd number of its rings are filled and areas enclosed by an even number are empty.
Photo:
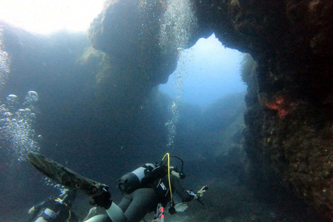
M207 106L228 94L246 91L241 81L242 53L225 48L212 35L181 51L178 67L160 90L185 103Z

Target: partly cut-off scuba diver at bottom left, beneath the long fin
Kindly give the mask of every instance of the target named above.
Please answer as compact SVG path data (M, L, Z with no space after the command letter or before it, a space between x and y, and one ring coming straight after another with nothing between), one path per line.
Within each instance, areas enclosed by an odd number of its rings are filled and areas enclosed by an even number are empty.
M79 222L76 214L71 210L71 205L76 198L76 190L63 189L58 198L50 196L41 203L31 207L28 211L29 222ZM38 214L40 213L40 214ZM38 216L37 216L38 214ZM83 221L96 214L96 207L89 210ZM37 217L37 218L36 218Z

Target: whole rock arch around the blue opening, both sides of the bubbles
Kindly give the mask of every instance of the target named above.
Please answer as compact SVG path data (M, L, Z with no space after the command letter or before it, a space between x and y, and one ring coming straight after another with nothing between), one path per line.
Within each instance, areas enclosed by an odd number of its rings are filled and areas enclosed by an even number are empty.
M109 56L126 90L142 92L126 92L128 101L165 83L176 69L177 49L170 46L165 53L159 46L158 18L167 3L108 1L90 28L93 46ZM244 148L253 169L268 167L282 184L333 220L333 3L189 3L197 26L186 47L215 33L225 46L250 53L257 62L249 76L244 114ZM105 87L111 87L108 78Z

